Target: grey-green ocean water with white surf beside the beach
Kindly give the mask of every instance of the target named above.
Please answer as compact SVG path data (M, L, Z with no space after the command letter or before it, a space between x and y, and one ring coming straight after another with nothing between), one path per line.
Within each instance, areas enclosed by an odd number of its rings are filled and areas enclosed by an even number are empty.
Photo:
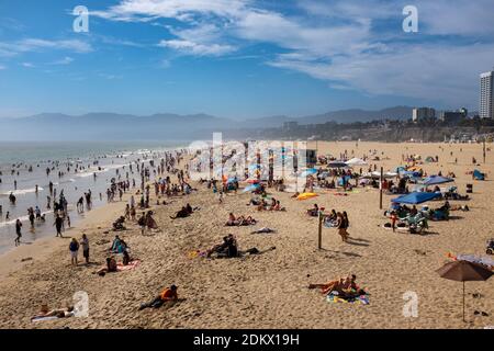
M136 167L134 166L131 171L128 165L145 158L160 159L165 151L179 147L178 143L166 141L0 141L0 205L2 206L0 253L14 246L18 218L23 224L22 245L29 245L46 236L55 236L53 210L47 208L50 181L56 190L57 199L64 191L74 226L87 213L79 215L75 211L77 201L85 192L91 190L93 207L101 206L106 203L106 189L112 178L119 180L120 177L120 180L126 180L128 173L131 185L132 179L135 179L136 186L139 186L141 177ZM98 163L94 165L94 162ZM76 172L76 165L85 169ZM98 167L101 169L99 170ZM47 168L53 168L49 174L46 174ZM59 171L65 174L59 177ZM16 189L14 181L16 181ZM16 197L15 205L10 204L10 193ZM100 200L100 193L102 200ZM46 222L36 220L33 229L27 217L27 208L31 206L33 208L38 206L42 213L46 214ZM5 218L8 212L9 219Z

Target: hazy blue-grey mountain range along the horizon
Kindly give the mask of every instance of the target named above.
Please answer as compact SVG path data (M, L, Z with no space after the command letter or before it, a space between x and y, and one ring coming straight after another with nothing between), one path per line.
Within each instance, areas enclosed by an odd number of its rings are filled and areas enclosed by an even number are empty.
M246 121L222 118L207 114L154 114L136 116L116 113L89 113L74 116L43 113L29 117L0 118L1 140L115 140L115 139L211 139L212 132L280 127L284 122L321 124L353 123L374 120L407 120L409 106L379 111L340 110L324 114L288 117L269 116Z

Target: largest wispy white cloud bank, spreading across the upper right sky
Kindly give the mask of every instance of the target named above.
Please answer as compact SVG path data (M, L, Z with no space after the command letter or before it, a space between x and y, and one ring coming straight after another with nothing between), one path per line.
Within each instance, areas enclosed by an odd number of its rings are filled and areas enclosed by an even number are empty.
M179 53L221 56L249 43L269 43L278 54L267 57L267 64L327 80L337 89L451 104L476 101L478 73L494 65L492 0L297 4L301 13L287 14L254 0L123 0L100 15L154 25L157 19L175 19L178 24L166 26L173 38L159 46ZM407 4L418 8L419 33L414 36L402 31Z

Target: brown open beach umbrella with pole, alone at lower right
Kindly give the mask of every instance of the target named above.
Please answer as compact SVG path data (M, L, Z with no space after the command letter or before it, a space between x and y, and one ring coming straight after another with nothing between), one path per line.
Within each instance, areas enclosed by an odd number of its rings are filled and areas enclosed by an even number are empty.
M484 265L469 261L453 261L436 271L440 278L463 282L463 321L464 319L464 282L486 281L493 272Z

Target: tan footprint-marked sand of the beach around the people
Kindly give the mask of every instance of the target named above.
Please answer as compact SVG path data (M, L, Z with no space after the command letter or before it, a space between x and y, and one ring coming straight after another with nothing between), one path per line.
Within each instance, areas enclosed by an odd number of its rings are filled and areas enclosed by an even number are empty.
M310 147L315 148L315 143ZM487 145L487 147L492 147ZM317 197L292 199L292 193L268 189L280 201L284 212L258 212L247 206L250 194L228 193L220 203L203 184L191 182L197 192L166 199L156 205L151 194L150 210L159 229L142 235L136 223L126 223L119 231L139 259L132 270L93 274L104 264L105 249L115 233L113 220L123 215L128 194L92 211L67 236L90 240L91 261L87 267L70 265L68 239L47 238L11 250L0 258L0 328L484 328L494 325L494 280L467 282L467 322L462 321L462 285L439 278L436 270L451 261L448 253L485 256L485 242L494 237L494 154L489 150L482 161L480 144L384 144L360 141L318 141L319 155L338 158L347 150L352 157L377 150L380 160L369 160L373 168L394 171L402 155L438 156L438 162L418 165L428 174L456 174L458 192L473 184L468 201L470 211L451 212L449 220L429 222L422 235L393 233L382 227L390 200L383 196L379 208L379 190L358 186L316 190ZM452 156L451 156L452 152ZM479 166L472 165L472 157ZM457 159L457 162L454 162ZM369 166L362 166L366 171ZM357 167L356 169L358 169ZM480 169L484 181L468 174ZM246 183L240 183L244 188ZM151 192L153 193L153 192ZM165 199L160 199L162 201ZM187 218L171 219L190 203L200 210ZM306 210L318 204L330 211L346 211L351 240L343 242L334 228L323 228L323 248L317 249L318 219ZM440 206L442 202L437 202ZM436 205L436 203L434 203ZM226 227L228 214L252 216L254 226ZM251 234L269 227L272 234ZM195 257L235 235L242 250L257 248L260 254L234 259ZM55 235L54 235L55 236ZM22 261L23 259L26 259ZM82 259L80 259L82 261ZM329 303L311 283L356 274L360 287L369 293L369 304ZM139 310L139 304L156 296L164 287L176 284L179 301L161 308ZM32 322L42 304L64 307L76 292L89 297L87 317L60 318ZM418 297L416 317L403 314L407 292ZM475 314L475 312L484 312Z

